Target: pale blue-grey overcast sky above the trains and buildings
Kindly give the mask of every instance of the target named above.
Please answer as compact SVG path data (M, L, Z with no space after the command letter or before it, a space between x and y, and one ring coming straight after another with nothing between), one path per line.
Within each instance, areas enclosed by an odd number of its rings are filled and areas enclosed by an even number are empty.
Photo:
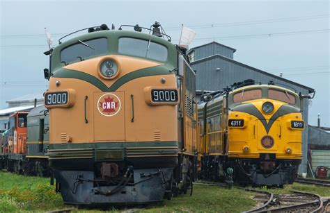
M80 28L158 21L175 44L184 24L197 33L191 47L215 40L239 62L314 88L309 123L320 113L330 126L329 1L0 1L0 109L46 90L45 27L56 46Z

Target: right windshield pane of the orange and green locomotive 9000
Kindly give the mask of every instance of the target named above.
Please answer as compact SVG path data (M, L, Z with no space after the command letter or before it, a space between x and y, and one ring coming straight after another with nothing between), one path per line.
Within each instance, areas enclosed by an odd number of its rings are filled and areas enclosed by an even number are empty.
M168 56L166 46L150 40L140 40L132 37L120 37L118 52L161 61L166 61Z

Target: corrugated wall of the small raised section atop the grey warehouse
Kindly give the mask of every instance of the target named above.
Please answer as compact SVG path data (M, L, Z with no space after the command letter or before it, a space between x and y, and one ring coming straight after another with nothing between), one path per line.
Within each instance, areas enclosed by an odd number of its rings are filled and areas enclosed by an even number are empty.
M194 60L200 60L201 58L206 58L213 55L221 55L227 58L234 58L234 50L226 46L222 46L217 43L210 43L205 46L200 46L195 49L195 58Z

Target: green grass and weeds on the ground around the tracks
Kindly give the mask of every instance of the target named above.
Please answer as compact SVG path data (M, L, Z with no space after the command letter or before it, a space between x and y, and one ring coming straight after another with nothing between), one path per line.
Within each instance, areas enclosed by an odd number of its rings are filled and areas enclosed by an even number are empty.
M201 182L203 183L203 182ZM256 188L260 189L260 188ZM274 194L289 194L290 190L311 191L321 196L330 196L329 187L313 185L287 185L284 189L267 189ZM46 212L72 209L72 212L243 212L256 207L255 192L242 189L226 189L214 185L194 185L192 196L180 195L171 200L143 206L109 206L106 208L77 208L64 205L61 194L56 194L54 186L49 186L49 178L19 176L0 171L0 212Z

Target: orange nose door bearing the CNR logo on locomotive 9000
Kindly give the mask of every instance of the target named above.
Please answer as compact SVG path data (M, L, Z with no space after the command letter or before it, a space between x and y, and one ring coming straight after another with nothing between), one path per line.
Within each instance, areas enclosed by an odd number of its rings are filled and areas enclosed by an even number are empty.
M107 142L124 141L124 92L95 92L93 103L94 140Z

